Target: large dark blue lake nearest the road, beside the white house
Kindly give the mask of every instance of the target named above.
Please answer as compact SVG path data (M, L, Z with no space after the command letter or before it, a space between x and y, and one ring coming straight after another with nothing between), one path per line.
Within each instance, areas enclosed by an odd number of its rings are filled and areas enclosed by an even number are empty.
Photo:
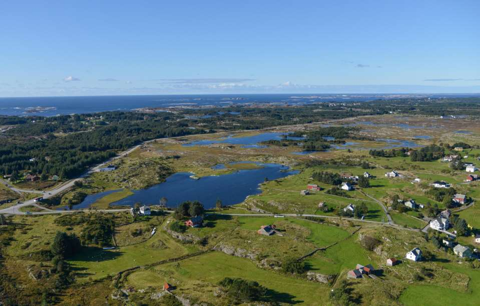
M176 207L187 200L199 200L205 208L212 208L215 207L217 199L220 199L223 205L233 205L242 202L248 195L260 193L259 184L265 178L273 180L299 172L276 163L260 163L260 165L263 167L218 176L204 176L200 179L190 178L192 173L189 172L178 172L167 177L165 182L146 189L133 190L134 194L111 205L133 206L136 202L158 204L162 197L168 199L169 207ZM98 196L97 199L100 197L102 196ZM95 200L84 202L76 205L75 208L88 208Z

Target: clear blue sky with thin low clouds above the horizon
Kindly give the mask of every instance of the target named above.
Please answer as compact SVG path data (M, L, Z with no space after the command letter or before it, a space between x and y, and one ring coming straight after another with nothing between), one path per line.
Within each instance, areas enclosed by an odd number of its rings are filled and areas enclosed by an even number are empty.
M480 92L480 1L5 1L0 96Z

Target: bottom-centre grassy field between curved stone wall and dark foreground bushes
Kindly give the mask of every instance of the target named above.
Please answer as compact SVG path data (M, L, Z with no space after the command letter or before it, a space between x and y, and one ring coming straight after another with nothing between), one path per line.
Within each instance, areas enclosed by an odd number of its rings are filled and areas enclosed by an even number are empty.
M328 301L327 285L309 282L281 273L260 269L248 259L213 252L142 270L128 277L130 285L136 288L160 287L164 281L177 286L176 294L186 293L201 301L219 304L213 295L217 283L224 277L241 277L258 281L268 288L270 301L280 303L303 303L306 305L325 304ZM221 300L221 304L226 300Z

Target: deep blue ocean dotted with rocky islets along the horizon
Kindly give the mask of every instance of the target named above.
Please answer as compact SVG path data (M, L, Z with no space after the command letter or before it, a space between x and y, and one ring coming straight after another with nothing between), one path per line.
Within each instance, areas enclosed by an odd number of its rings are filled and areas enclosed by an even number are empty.
M42 115L132 110L141 107L229 106L241 103L306 104L321 101L369 101L406 97L471 97L471 94L191 94L64 97L1 97L0 114ZM476 95L478 96L478 95Z

